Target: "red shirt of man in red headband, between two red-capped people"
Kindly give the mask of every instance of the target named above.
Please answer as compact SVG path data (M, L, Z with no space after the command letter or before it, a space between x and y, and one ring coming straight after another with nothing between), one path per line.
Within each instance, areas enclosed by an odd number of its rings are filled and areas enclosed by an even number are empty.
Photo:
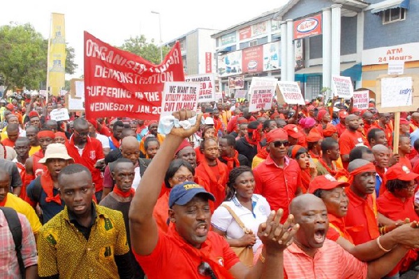
M353 239L353 244L358 245L376 239L378 232L378 213L375 193L362 199L353 193L350 187L346 188L348 195L348 213L345 217L345 225Z

